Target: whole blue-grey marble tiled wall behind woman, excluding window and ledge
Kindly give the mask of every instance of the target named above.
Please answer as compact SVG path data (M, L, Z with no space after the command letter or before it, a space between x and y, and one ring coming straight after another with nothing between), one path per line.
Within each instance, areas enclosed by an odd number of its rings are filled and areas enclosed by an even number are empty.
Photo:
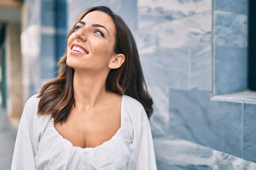
M99 5L136 39L158 169L256 169L256 105L211 100L247 88L247 0L69 0L69 28Z

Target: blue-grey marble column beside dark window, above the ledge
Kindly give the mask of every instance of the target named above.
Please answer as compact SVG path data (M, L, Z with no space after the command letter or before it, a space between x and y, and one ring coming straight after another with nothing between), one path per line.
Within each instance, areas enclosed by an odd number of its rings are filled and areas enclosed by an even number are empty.
M248 0L214 0L213 94L247 89Z

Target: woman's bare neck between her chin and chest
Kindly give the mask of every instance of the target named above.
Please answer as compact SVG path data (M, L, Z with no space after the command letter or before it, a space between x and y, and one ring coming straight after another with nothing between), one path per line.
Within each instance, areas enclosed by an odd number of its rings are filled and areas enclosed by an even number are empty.
M75 72L73 89L76 110L88 112L102 102L108 94L105 83L106 75L94 74L91 76Z

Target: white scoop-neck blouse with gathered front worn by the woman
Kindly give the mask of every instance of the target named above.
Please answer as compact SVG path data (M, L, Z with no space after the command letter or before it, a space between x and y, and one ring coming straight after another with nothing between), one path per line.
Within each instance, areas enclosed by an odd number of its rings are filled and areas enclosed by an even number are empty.
M75 147L55 129L49 116L38 116L39 98L24 107L12 170L157 170L148 117L137 100L122 96L121 127L98 147Z

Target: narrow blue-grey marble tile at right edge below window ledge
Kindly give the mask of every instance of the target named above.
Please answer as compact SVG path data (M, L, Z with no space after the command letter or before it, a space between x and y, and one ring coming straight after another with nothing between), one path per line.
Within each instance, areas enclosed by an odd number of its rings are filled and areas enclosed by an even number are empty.
M243 159L256 162L256 105L244 104Z

